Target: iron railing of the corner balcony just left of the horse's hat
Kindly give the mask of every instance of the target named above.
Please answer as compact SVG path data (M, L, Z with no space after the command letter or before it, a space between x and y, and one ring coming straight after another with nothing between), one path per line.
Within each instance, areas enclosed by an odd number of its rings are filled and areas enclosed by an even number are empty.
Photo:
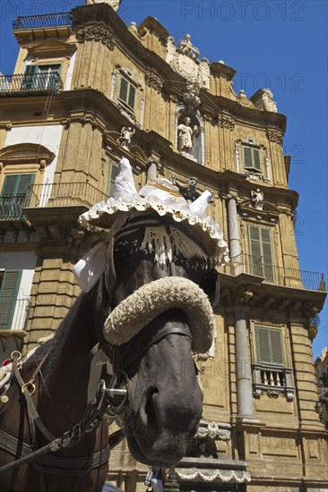
M91 207L108 195L90 182L54 182L30 185L26 207Z

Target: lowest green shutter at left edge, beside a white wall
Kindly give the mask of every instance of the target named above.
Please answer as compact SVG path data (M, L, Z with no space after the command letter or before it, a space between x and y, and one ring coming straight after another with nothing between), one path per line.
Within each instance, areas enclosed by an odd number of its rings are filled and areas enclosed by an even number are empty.
M9 330L12 327L13 312L17 301L17 293L21 283L22 270L5 270L0 288L0 328Z

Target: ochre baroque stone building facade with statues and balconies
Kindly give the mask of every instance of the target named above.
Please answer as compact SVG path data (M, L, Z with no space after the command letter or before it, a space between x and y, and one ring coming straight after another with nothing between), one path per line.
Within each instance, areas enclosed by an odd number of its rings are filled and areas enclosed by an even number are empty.
M311 342L324 276L302 272L286 118L269 89L235 93L236 71L200 58L153 17L126 26L119 2L20 17L13 75L0 76L1 359L56 332L80 290L72 267L97 238L77 217L107 199L120 157L137 187L155 176L186 199L212 192L229 240L216 351L198 355L203 420L168 475L183 491L327 490L327 431ZM143 490L125 442L108 478Z

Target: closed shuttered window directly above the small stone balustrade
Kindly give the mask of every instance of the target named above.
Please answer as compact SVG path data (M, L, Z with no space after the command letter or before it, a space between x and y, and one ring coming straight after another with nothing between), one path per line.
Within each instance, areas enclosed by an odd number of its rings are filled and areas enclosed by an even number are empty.
M257 362L259 364L284 365L281 343L281 330L276 328L255 327Z

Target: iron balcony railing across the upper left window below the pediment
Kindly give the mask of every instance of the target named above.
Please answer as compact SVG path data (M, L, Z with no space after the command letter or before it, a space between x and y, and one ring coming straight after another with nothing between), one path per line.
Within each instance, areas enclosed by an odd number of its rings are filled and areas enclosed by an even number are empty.
M0 92L22 92L26 90L53 90L58 92L61 89L63 89L63 81L59 72L40 72L34 75L24 75L22 73L0 75Z

